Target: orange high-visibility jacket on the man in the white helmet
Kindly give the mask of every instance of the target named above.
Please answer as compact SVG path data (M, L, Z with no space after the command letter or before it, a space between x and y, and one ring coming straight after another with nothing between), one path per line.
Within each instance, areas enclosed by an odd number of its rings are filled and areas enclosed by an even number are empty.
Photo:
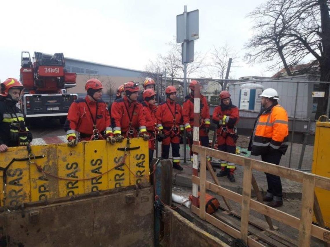
M288 115L279 104L260 112L253 130L250 150L252 155L279 150L285 154L288 148Z

